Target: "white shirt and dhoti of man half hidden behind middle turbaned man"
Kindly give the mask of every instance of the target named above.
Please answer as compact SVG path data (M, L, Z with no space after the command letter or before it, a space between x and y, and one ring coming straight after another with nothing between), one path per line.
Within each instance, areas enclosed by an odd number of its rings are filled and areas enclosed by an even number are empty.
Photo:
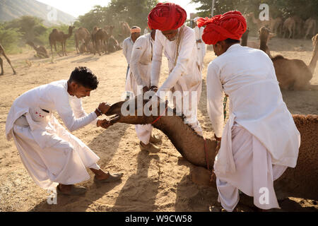
M142 35L134 43L130 60L130 73L126 80L126 91L139 95L143 86L151 85L151 60L153 58L153 39L151 34ZM153 126L136 125L136 133L140 141L149 143Z

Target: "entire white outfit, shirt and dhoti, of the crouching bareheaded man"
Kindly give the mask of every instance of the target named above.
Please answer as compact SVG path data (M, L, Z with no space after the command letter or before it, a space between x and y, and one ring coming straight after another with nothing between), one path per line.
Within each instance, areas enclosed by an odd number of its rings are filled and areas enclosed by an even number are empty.
M23 165L44 189L83 182L90 178L86 167L99 169L100 158L66 131L53 112L69 131L97 122L95 112L86 114L81 99L69 95L66 80L23 93L13 102L6 120L7 139L14 139Z

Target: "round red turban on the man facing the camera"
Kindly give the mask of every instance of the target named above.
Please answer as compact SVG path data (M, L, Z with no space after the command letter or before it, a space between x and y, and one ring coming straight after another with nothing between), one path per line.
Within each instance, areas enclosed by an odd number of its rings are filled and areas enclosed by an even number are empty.
M176 30L184 24L187 12L173 3L158 3L148 15L148 26L155 30Z

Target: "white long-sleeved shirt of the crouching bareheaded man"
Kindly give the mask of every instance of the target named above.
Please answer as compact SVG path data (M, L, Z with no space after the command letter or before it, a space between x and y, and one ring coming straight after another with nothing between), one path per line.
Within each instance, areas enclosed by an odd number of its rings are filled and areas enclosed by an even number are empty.
M53 117L53 112L57 112L69 131L75 131L90 123L95 124L95 119L97 119L95 112L86 114L80 98L69 95L66 80L55 81L33 88L20 95L13 102L6 120L7 139L12 137L13 124L16 119L25 113L30 128L35 129L39 124L33 121L29 115L33 114L33 109L39 108L49 111L46 117Z

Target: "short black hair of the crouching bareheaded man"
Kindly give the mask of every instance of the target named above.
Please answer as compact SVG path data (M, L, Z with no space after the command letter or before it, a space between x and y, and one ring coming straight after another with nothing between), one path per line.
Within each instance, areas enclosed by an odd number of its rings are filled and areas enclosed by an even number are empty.
M78 66L72 71L69 83L72 81L92 90L95 90L99 83L98 78L86 66Z

